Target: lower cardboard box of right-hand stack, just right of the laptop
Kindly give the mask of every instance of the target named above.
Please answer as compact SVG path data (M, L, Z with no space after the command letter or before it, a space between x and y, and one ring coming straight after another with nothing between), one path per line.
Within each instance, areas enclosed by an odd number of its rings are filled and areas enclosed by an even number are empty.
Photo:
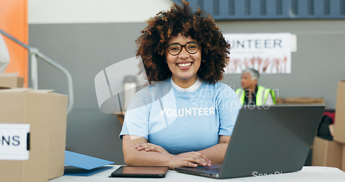
M342 169L342 144L315 136L311 165Z

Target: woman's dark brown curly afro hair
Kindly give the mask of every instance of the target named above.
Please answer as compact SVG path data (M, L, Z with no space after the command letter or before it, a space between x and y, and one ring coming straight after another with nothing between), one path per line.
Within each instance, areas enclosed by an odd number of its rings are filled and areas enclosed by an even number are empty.
M183 6L176 3L167 12L159 12L151 17L148 26L141 31L136 40L137 56L140 56L148 81L161 81L171 77L166 63L166 45L170 37L178 34L192 37L201 45L201 65L197 72L202 80L216 83L223 79L224 68L228 64L230 44L226 42L218 26L209 14L197 10L193 12L183 1Z

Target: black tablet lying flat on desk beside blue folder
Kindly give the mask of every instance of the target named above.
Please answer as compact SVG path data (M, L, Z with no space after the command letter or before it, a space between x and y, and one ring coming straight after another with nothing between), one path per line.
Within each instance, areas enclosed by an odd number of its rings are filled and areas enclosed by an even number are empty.
M121 166L109 177L164 178L166 166Z

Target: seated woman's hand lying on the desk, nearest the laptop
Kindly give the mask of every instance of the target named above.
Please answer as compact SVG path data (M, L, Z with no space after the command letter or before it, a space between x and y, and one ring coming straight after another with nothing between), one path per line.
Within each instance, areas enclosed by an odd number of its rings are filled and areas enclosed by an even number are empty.
M211 161L201 152L186 152L173 155L169 162L169 168L175 170L176 167L193 167L198 165L211 166Z

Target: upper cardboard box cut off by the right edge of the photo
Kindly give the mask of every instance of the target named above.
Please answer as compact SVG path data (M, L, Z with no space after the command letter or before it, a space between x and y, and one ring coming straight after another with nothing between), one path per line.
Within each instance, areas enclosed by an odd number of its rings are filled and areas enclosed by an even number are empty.
M337 103L335 105L335 122L333 139L345 143L345 81L339 81Z

